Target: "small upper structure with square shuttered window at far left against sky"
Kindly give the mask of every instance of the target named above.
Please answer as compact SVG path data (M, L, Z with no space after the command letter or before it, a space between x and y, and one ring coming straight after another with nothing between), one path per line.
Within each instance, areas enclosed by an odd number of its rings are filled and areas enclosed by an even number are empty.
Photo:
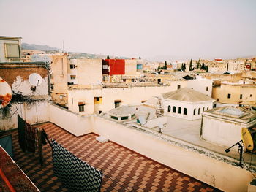
M21 37L0 36L0 62L20 61Z

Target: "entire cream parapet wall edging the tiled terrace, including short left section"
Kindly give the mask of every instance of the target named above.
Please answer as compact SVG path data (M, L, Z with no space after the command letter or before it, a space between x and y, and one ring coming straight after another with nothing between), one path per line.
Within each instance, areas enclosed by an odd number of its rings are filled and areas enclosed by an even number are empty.
M96 115L81 116L54 104L50 104L49 110L50 122L77 137L94 132L222 191L246 192L253 179L231 158L163 137L149 128L133 128Z

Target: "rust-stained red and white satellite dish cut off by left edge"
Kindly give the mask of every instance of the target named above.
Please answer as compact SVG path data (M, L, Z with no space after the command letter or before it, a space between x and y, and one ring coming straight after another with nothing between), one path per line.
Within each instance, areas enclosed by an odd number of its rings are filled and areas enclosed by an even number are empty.
M7 106L12 99L12 89L10 85L0 77L0 109Z

